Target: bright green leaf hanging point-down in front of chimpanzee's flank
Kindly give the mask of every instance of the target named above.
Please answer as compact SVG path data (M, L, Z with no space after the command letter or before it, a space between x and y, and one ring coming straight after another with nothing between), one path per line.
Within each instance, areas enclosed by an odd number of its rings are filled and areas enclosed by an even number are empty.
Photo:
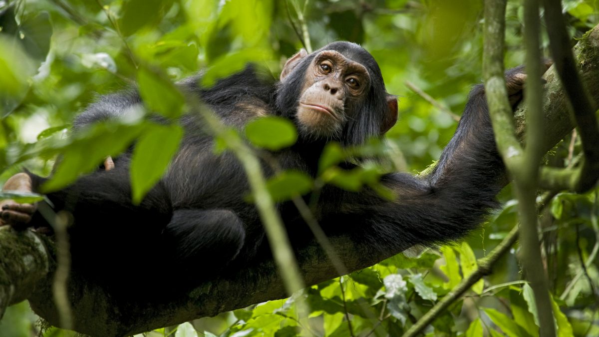
M179 149L183 128L179 125L152 125L140 137L131 159L133 202L138 204L160 180Z

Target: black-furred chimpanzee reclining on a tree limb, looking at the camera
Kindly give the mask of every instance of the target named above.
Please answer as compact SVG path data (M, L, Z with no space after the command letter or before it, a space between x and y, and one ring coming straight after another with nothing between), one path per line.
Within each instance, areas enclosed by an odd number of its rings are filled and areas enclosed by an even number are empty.
M515 104L525 76L522 68L506 76ZM181 91L196 95L225 124L243 128L267 115L294 122L297 143L271 155L283 169L312 176L327 142L360 145L385 134L397 120L397 99L386 92L379 66L353 43L331 43L310 54L301 50L286 62L276 83L257 76L251 66L208 89L198 80L198 76L184 80ZM137 104L141 99L135 91L106 95L75 119L74 128L114 118ZM268 256L256 207L244 198L249 185L243 167L233 154L214 154L213 139L202 132L201 119L191 110L179 121L186 130L179 152L141 204L131 202L130 151L115 159L114 168L83 176L47 195L56 211L72 213L74 270L94 273L95 279L138 279L141 276L135 273L159 273L161 267L177 265L197 281L207 277L204 273L235 270ZM267 176L274 173L263 166ZM503 170L484 89L478 85L428 176L382 176L381 183L394 192L394 200L368 187L350 192L325 186L314 215L328 234L348 233L373 251L447 242L474 228L494 206ZM8 180L5 189L38 191L44 180L20 173ZM294 207L285 203L279 207L289 231L305 228ZM10 201L4 203L1 218L14 227L46 224L34 205ZM306 240L305 235L291 239L295 246Z

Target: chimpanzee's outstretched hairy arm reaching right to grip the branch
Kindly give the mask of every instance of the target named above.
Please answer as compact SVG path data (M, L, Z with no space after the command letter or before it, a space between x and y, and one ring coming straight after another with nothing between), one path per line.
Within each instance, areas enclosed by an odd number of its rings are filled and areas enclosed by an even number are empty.
M522 68L506 73L513 104L521 98ZM336 206L323 206L323 225L334 223L366 238L373 249L405 249L418 243L458 239L482 221L495 206L503 186L504 167L482 85L474 87L455 135L437 166L425 177L392 173L382 183L397 198L383 200L376 192L343 192ZM336 191L338 192L338 191ZM323 195L325 197L325 195ZM328 208L328 209L327 209ZM337 226L335 226L337 227Z

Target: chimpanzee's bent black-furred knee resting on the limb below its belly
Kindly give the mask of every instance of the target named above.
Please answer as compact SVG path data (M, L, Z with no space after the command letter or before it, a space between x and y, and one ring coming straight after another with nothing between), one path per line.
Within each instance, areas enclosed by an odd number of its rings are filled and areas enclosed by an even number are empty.
M231 210L179 209L164 229L162 242L165 257L197 281L194 275L213 273L233 260L245 237L243 222Z

